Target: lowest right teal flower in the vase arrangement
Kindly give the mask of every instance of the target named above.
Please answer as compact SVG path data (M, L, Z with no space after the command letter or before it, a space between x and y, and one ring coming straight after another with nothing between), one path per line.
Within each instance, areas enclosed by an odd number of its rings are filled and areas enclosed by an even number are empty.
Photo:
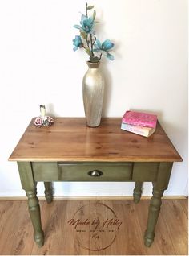
M111 43L111 40L107 39L102 44L98 39L94 43L94 52L101 52L109 60L114 60L114 56L109 53L109 51L114 47L114 43Z

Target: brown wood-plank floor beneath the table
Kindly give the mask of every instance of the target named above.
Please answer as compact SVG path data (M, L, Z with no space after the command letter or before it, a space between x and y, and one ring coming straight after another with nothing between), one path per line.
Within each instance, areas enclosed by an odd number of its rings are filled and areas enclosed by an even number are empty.
M96 209L94 204L98 205ZM26 201L0 201L0 254L187 255L187 200L163 200L150 248L143 245L148 205L149 200L139 204L132 200L54 200L46 204L41 200L45 245L38 248ZM105 228L112 230L91 234L91 226L85 223L81 229L86 231L80 232L79 225L68 222L79 214L98 216L100 221L113 214L122 223L118 229L109 222ZM106 242L107 249L102 250ZM93 250L94 246L98 250Z

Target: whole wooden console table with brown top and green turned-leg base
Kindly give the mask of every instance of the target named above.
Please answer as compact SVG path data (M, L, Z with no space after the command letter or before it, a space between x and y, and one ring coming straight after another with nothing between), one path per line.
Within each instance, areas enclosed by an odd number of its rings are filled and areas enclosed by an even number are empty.
M97 128L86 127L85 118L55 118L53 126L37 128L32 119L9 160L18 162L38 246L44 243L38 181L45 184L48 203L53 181L135 181L135 203L140 200L143 182L151 181L153 196L144 234L145 245L151 246L172 164L182 158L159 123L150 138L120 126L121 118L103 118Z

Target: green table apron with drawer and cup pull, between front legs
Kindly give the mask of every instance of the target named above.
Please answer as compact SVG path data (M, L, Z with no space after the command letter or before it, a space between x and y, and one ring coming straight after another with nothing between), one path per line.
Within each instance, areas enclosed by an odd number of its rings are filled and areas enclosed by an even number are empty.
M35 181L155 181L156 162L32 162Z

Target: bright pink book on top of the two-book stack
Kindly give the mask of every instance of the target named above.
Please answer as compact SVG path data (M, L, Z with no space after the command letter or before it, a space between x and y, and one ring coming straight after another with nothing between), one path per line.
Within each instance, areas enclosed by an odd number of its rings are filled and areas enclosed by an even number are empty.
M155 128L157 123L157 116L155 114L126 111L122 122L133 126L146 126Z

